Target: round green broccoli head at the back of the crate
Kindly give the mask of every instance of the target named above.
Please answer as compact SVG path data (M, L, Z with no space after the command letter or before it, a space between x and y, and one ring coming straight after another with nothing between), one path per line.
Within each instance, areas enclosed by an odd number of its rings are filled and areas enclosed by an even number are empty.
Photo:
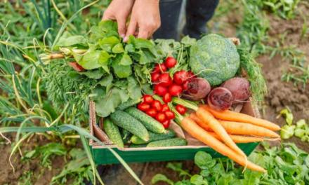
M208 34L191 46L189 66L194 74L206 78L211 85L220 85L235 76L239 54L230 39Z

